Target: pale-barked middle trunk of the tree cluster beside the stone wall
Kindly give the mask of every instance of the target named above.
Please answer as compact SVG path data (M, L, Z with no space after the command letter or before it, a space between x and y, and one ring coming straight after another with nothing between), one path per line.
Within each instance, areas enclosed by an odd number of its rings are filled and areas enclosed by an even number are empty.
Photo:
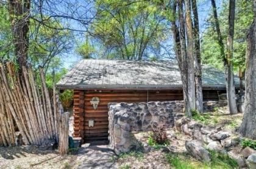
M194 82L194 41L193 26L191 20L190 0L185 0L186 32L187 32L187 69L188 69L188 109L187 116L191 116L191 110L196 109L196 91Z

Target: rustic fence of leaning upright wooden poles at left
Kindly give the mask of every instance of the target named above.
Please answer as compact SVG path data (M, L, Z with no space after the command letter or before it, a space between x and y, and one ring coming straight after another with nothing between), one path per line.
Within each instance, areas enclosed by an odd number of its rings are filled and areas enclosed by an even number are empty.
M37 82L31 69L22 70L18 74L13 63L0 63L0 146L15 145L15 126L26 145L41 145L46 139L58 142L63 111L55 94L49 97L43 69Z

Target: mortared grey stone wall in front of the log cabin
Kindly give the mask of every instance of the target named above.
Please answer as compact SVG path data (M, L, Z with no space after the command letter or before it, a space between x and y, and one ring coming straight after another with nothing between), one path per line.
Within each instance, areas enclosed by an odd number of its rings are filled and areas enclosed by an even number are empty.
M182 112L183 102L108 104L109 140L116 154L132 147L131 131L151 131L157 126L174 126L174 116Z

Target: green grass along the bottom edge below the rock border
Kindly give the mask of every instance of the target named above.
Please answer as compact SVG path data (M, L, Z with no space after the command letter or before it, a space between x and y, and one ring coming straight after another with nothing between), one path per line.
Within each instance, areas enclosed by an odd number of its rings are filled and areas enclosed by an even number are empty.
M231 169L238 168L238 164L235 160L231 159L229 156L224 154L216 153L215 151L210 151L212 160L208 163L200 162L199 160L193 159L188 154L167 154L166 160L169 164L176 169L197 169L197 168L223 168Z

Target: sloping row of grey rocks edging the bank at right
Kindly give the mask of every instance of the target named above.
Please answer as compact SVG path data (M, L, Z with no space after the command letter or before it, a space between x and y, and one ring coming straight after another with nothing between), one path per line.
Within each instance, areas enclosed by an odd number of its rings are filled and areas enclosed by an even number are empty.
M177 119L174 124L177 131L193 139L186 141L185 147L196 159L208 162L208 150L213 150L229 155L239 167L247 165L249 168L256 168L256 151L249 147L238 147L241 137L231 137L232 134L221 127L210 128L185 116Z

